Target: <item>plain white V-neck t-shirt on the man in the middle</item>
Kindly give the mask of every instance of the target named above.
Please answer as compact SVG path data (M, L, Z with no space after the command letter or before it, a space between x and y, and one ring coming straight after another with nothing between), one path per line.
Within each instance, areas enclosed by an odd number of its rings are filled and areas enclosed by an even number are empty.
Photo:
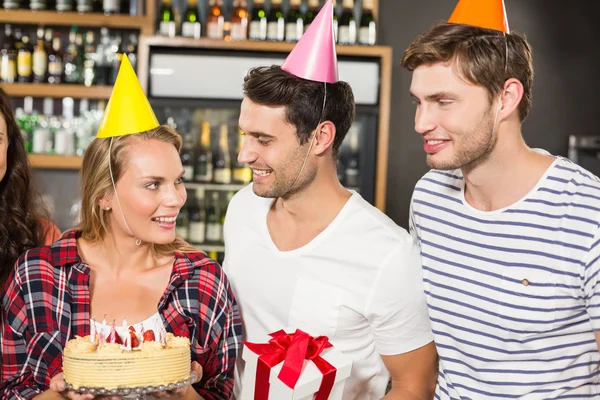
M224 268L244 323L244 340L282 328L327 335L353 361L344 400L379 400L389 380L381 355L433 340L419 250L411 236L353 193L335 220L307 245L282 252L271 240L273 199L252 185L231 200ZM243 360L236 366L236 393Z

